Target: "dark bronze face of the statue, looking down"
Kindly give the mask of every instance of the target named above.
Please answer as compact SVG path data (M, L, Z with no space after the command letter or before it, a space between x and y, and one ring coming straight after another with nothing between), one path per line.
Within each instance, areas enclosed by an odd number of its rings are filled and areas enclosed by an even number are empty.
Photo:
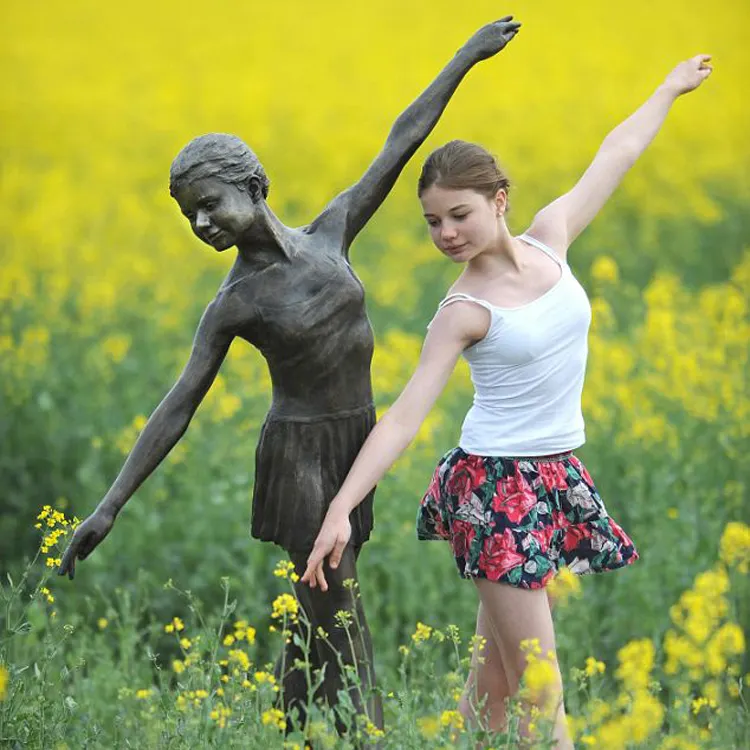
M217 252L240 242L258 210L249 192L216 177L187 183L175 199L196 237Z

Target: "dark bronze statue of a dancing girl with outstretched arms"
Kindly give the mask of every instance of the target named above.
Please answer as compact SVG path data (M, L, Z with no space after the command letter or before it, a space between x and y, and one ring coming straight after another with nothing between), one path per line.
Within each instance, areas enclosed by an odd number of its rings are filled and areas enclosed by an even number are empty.
M286 227L266 203L268 178L255 154L224 134L201 136L185 146L170 173L170 192L199 239L237 258L201 318L190 358L179 379L150 416L130 455L96 510L76 529L59 574L75 574L104 539L122 507L159 465L190 423L235 337L263 354L273 383L270 411L256 451L252 535L276 542L298 575L336 494L375 423L370 361L373 334L364 289L349 265L349 247L420 144L437 123L468 71L516 35L506 16L487 24L461 47L430 86L398 117L383 150L362 178L336 196L307 226ZM313 628L322 627L345 664L356 659L368 706L351 692L360 712L382 727L382 707L372 671L372 646L361 600L344 586L357 579L356 561L373 525L372 493L352 514L352 538L336 570L326 570L327 592L296 584ZM354 615L350 641L335 615ZM285 709L304 720L307 685L292 668L303 659L286 646ZM343 675L335 655L313 642L313 668L326 665L323 692L331 705ZM281 662L280 662L281 663Z

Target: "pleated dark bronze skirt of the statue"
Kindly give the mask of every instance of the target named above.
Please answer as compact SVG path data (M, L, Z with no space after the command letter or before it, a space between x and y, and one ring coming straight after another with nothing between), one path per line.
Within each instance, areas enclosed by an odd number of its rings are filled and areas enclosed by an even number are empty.
M374 425L372 405L306 419L269 414L255 451L252 535L287 552L311 550L331 500ZM350 516L356 547L370 537L374 494Z

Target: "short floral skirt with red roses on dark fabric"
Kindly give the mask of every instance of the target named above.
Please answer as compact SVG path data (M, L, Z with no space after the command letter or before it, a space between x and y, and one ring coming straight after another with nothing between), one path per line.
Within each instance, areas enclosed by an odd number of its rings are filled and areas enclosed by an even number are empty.
M503 458L454 448L420 503L417 536L448 540L462 578L525 589L542 588L562 566L599 573L638 559L572 453Z

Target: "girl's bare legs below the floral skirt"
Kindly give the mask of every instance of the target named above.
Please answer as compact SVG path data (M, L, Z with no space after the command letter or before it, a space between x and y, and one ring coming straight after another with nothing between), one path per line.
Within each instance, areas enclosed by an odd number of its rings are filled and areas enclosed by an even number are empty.
M485 684L493 685L497 695L501 695L507 686L507 692L514 695L521 683L521 676L526 668L526 654L521 649L521 641L536 638L539 641L542 654L545 658L548 652L554 655L556 682L551 685L545 694L537 697L538 708L544 711L545 707L557 705L554 714L555 728L553 736L557 741L557 750L573 750L565 720L565 708L562 702L562 677L557 666L557 654L555 649L555 633L552 623L552 612L550 602L544 589L527 590L518 589L504 583L488 581L486 579L475 579L474 583L479 591L480 611L477 617L477 627L482 619L482 627L492 634L496 646L494 664L501 664L503 668L502 677L494 676L485 678ZM487 627L488 626L488 627ZM486 636L485 636L486 637ZM489 641L489 639L488 639ZM488 643L489 646L489 643ZM488 656L492 652L487 649ZM490 658L492 658L490 656ZM487 668L490 664L487 658L484 665L478 668ZM472 672L474 670L472 669ZM476 673L479 675L479 672ZM499 701L488 699L488 705L496 707ZM502 702L500 702L502 705ZM495 708L497 711L497 708ZM492 728L503 728L505 712L503 710L502 723L491 717ZM528 721L521 724L522 735L528 734L526 728Z

